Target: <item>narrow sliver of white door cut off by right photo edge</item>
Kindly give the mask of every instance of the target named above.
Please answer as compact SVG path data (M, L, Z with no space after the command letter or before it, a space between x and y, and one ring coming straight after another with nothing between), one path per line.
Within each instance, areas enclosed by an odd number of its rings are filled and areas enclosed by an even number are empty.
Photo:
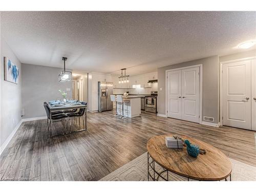
M251 60L251 129L256 131L256 61Z

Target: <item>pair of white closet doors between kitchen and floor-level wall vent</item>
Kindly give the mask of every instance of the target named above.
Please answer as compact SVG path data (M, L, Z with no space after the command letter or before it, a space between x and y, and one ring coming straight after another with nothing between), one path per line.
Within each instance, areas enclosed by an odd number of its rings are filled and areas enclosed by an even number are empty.
M199 122L199 67L167 73L167 116Z

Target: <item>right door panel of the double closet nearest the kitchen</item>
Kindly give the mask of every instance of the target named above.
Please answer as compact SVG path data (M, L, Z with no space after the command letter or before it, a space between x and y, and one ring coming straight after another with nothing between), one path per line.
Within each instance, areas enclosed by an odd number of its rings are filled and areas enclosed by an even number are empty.
M199 122L199 67L182 70L182 114L186 121Z

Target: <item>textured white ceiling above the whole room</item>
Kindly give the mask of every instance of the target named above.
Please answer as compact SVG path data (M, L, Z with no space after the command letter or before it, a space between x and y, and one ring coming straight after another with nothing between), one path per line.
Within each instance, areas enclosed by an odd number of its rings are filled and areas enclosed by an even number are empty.
M1 30L22 63L135 75L244 51L256 12L1 12Z

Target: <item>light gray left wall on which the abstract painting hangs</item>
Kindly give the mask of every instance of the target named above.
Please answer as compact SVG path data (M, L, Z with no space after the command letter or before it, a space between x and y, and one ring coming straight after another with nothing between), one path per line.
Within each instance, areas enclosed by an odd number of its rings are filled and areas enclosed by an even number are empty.
M9 57L19 68L18 84L4 80L4 57ZM1 37L1 130L0 145L10 136L16 125L22 119L22 66L6 41Z

